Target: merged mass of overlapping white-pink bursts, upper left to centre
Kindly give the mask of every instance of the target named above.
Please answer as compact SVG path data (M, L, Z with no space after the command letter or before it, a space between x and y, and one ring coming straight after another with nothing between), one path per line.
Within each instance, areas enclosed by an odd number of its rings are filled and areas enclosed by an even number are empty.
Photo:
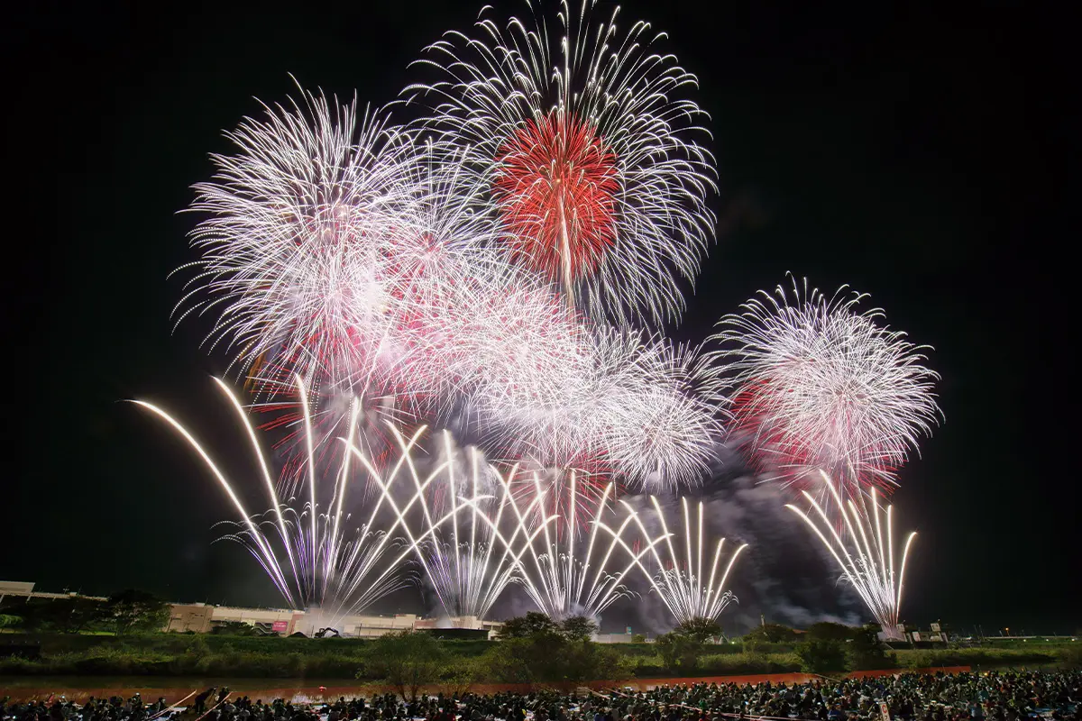
M650 485L704 470L718 428L685 392L682 353L595 329L494 251L487 181L466 150L311 93L228 137L238 152L196 186L203 257L177 312L216 313L212 343L236 350L256 408L280 412L270 424L294 429L287 492L303 478L300 440L337 455L326 441L355 398L372 448L390 442L385 420L465 410L500 457L599 462ZM312 409L289 408L294 374L312 378Z

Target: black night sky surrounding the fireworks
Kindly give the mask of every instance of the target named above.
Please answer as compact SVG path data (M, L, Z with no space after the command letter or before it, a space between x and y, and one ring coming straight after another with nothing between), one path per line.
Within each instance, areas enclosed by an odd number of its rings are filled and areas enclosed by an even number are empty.
M0 578L279 605L243 549L212 544L229 508L211 478L121 402L164 405L212 439L227 468L250 467L230 450L243 439L212 388L226 358L199 348L204 325L172 332L181 283L167 276L196 257L185 239L195 217L176 212L209 177L208 153L230 150L222 130L259 112L253 97L283 101L293 74L386 103L413 80L421 48L466 29L480 3L156 4L42 3L9 18L15 465L3 480ZM946 424L895 494L902 528L920 532L903 618L1074 631L1069 24L1032 3L813 4L624 3L624 26L644 17L668 30L699 76L722 177L718 242L671 335L701 339L786 271L870 293L892 325L935 347L942 375ZM729 630L760 614L863 617L777 511L780 496L738 466L703 492L715 520L730 521L722 530L754 546L736 572ZM379 610L423 610L414 597ZM606 628L649 627L651 612L632 606L613 606Z

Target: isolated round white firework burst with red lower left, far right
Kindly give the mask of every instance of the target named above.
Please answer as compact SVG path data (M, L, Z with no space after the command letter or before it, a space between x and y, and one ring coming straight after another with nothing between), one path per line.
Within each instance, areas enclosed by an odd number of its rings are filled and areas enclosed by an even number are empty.
M814 485L822 469L843 496L889 490L940 416L927 347L882 325L881 309L858 311L865 297L845 286L827 297L793 278L791 295L781 285L761 292L710 338L714 395L733 393L734 428L787 485Z

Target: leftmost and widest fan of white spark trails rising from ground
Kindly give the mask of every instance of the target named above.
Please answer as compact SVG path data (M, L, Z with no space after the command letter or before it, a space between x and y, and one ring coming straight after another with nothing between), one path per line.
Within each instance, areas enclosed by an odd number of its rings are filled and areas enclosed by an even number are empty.
M411 508L423 505L428 486L444 470L444 465L437 466L423 481L415 472L411 462L407 463L418 441L424 433L422 426L409 439L394 429L400 456L394 469L383 476L375 469L371 460L355 445L347 442L348 452L343 455L343 465L334 476L327 511L320 512L320 492L322 484L315 475L314 465L309 464L311 475L307 477L308 499L294 507L294 499L282 502L275 491L266 458L260 448L255 430L245 413L243 406L222 380L215 378L221 390L229 399L241 419L252 442L260 475L270 500L270 509L261 515L251 515L241 503L235 485L222 473L217 465L203 450L195 437L169 413L145 401L134 401L151 411L170 426L196 451L200 458L215 477L228 495L240 521L227 521L239 531L224 536L227 539L242 544L256 559L270 577L282 598L294 609L319 607L327 615L331 625L343 616L359 613L374 601L408 585L400 574L400 565L409 556L419 551L454 513L448 512L439 518L426 516L420 533L413 533L408 520ZM304 382L298 377L299 390L305 397ZM351 429L355 428L355 415ZM306 426L311 428L311 425ZM312 443L307 446L312 449ZM349 459L356 458L368 471L369 481L379 490L375 502L371 504L367 521L359 528L347 528L349 517L345 513L346 489L351 483ZM311 455L309 455L311 459ZM414 486L413 494L405 504L395 500L393 490L405 483L399 480L399 472L406 465L411 472ZM471 499L472 500L472 499ZM390 521L386 512L391 511ZM307 518L305 518L307 516ZM265 520L270 517L270 520ZM265 530L266 529L266 530ZM409 540L401 543L394 537L396 532L405 533ZM269 533L268 533L269 532ZM275 540L277 537L277 542ZM388 552L395 551L396 552Z

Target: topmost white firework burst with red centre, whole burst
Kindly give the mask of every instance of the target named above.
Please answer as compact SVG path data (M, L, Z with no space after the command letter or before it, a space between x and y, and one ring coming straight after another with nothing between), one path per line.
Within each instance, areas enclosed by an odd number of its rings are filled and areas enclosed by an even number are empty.
M652 52L664 36L647 23L618 32L619 8L592 24L593 0L578 12L565 0L557 17L529 4L532 19L447 32L418 61L437 79L403 102L435 106L418 124L438 148L467 149L460 161L491 188L512 262L591 316L673 319L714 229L705 112L681 99L698 81Z

